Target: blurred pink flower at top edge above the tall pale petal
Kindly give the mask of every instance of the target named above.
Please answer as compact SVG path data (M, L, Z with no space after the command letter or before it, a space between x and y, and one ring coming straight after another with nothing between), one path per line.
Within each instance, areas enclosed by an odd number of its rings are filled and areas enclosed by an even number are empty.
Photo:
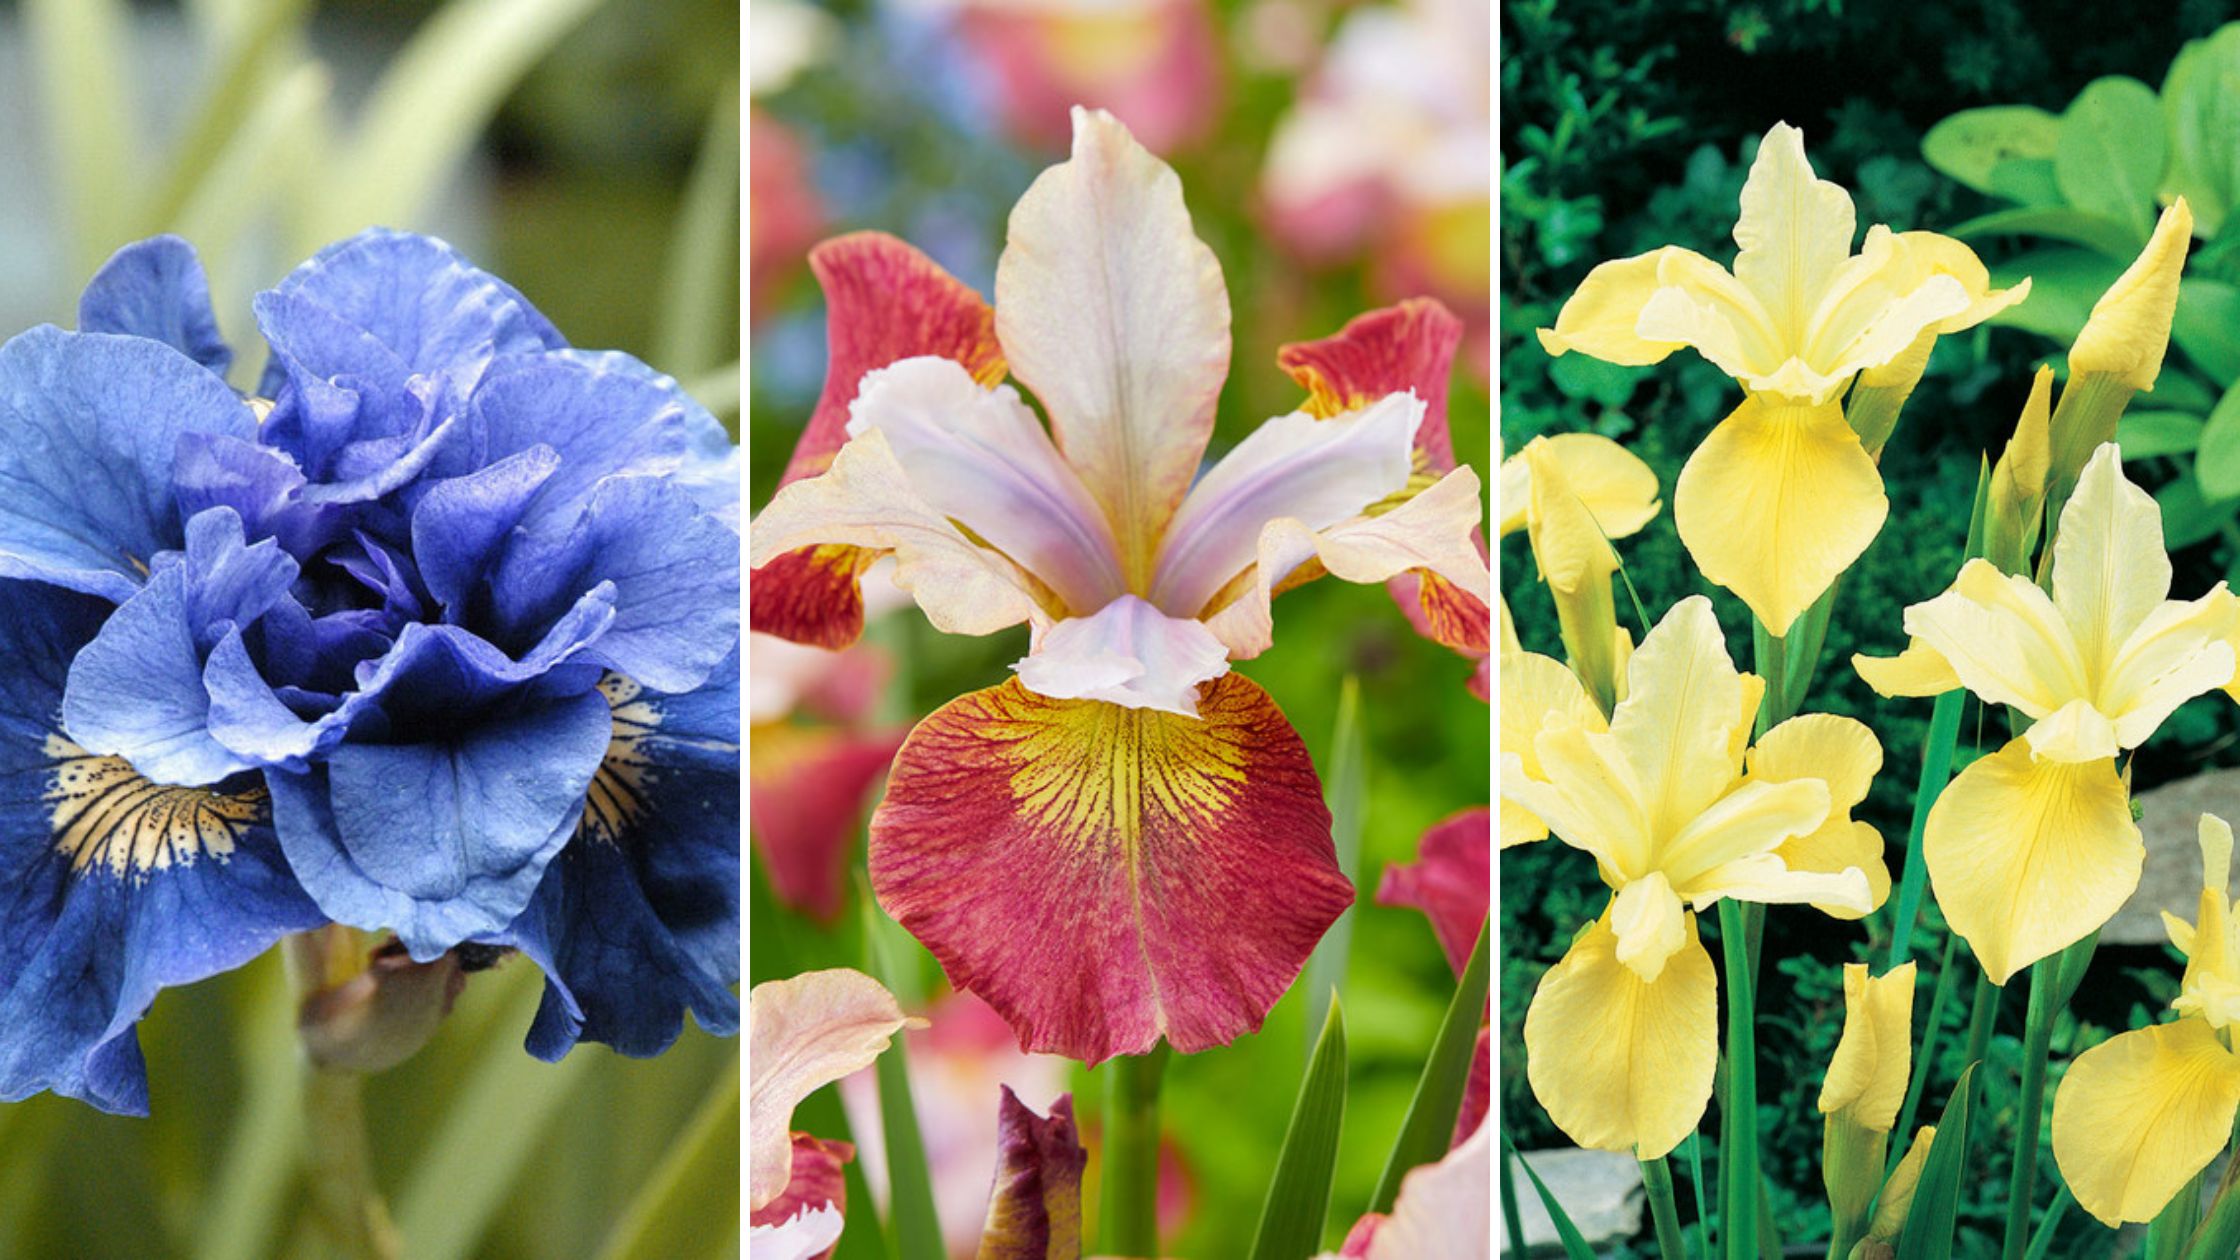
M950 13L986 63L1004 130L1062 152L1071 108L1109 110L1145 148L1189 148L1221 110L1221 47L1205 0L900 0Z

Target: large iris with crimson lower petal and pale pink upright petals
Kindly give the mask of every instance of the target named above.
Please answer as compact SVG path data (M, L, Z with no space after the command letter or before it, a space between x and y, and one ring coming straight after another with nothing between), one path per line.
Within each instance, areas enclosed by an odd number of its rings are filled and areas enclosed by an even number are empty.
M1230 661L1315 574L1431 574L1485 608L1478 478L1418 478L1427 399L1351 377L1348 410L1270 419L1198 475L1228 291L1174 170L1109 114L1075 112L1071 161L1012 211L992 314L923 256L860 249L853 278L820 256L851 294L795 455L822 473L748 531L755 628L844 643L892 554L936 628L1033 630L1012 679L903 744L871 888L1026 1049L1223 1045L1353 899L1299 735Z

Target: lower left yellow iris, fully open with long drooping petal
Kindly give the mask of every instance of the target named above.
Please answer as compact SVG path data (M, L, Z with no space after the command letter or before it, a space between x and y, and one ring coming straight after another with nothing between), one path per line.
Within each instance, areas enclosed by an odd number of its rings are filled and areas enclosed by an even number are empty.
M1503 659L1503 722L1525 686L1561 695L1561 666L1541 661ZM1866 915L1888 888L1866 870L1882 839L1850 821L1882 767L1875 735L1812 715L1752 749L1763 693L1691 596L1633 650L1606 726L1568 697L1543 706L1530 760L1503 733L1503 803L1593 854L1613 890L1525 1016L1532 1092L1579 1146L1655 1159L1711 1101L1718 982L1693 910L1734 897Z

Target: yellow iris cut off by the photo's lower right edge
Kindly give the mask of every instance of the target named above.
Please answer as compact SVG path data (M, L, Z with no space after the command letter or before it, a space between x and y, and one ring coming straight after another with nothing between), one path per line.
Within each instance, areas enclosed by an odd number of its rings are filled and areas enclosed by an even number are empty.
M2180 1018L2076 1056L2054 1094L2054 1159L2101 1222L2153 1220L2224 1150L2240 1114L2240 917L2229 899L2233 830L2202 814L2197 924L2164 915L2186 953Z

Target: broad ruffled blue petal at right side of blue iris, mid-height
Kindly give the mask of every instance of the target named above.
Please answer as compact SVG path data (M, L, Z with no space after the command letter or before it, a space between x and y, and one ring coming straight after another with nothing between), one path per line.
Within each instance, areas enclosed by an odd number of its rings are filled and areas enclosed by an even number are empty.
M517 536L491 574L497 641L542 630L614 583L614 626L585 659L683 693L739 643L739 536L656 478L600 482L567 534Z

